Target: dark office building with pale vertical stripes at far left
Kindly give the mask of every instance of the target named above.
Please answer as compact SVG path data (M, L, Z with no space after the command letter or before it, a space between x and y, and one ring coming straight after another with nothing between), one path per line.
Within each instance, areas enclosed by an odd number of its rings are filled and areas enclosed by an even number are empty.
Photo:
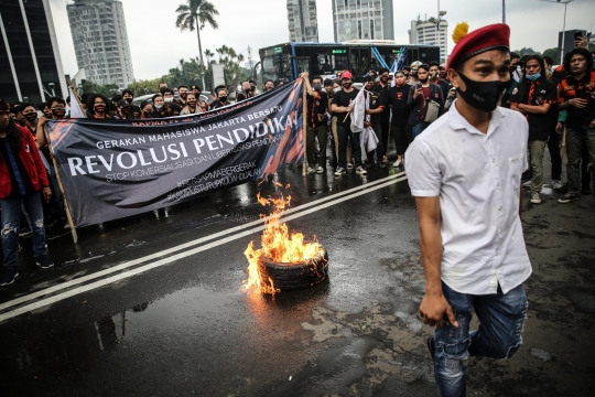
M66 96L50 0L0 1L0 96L41 104Z

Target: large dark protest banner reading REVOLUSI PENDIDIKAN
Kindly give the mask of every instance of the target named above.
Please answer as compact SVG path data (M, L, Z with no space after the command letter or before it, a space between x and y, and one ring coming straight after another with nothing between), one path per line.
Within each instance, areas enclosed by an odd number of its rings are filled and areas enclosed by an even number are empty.
M205 114L47 122L75 226L171 206L305 161L302 79Z

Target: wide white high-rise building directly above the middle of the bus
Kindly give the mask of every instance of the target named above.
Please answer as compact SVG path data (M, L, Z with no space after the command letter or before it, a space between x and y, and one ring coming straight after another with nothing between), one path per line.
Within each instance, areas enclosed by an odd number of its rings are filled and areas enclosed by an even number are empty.
M335 41L394 40L392 0L333 0Z

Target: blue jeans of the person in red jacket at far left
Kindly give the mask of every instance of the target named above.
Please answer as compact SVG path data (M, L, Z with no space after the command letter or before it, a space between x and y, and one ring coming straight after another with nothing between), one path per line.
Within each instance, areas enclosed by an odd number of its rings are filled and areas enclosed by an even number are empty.
M19 259L19 229L21 224L21 204L31 218L33 232L33 255L45 255L45 227L43 225L43 210L41 192L24 196L7 197L0 200L2 208L2 249L4 251L4 267L17 266Z

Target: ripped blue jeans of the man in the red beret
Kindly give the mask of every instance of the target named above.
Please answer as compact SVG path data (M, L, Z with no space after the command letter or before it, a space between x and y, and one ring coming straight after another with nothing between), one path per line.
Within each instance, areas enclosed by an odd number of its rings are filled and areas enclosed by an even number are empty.
M442 397L465 396L463 361L472 356L508 358L522 343L521 332L527 316L527 297L522 285L504 294L472 296L456 292L442 283L442 292L458 322L448 322L435 330L434 373ZM479 329L469 332L472 308L479 319Z

